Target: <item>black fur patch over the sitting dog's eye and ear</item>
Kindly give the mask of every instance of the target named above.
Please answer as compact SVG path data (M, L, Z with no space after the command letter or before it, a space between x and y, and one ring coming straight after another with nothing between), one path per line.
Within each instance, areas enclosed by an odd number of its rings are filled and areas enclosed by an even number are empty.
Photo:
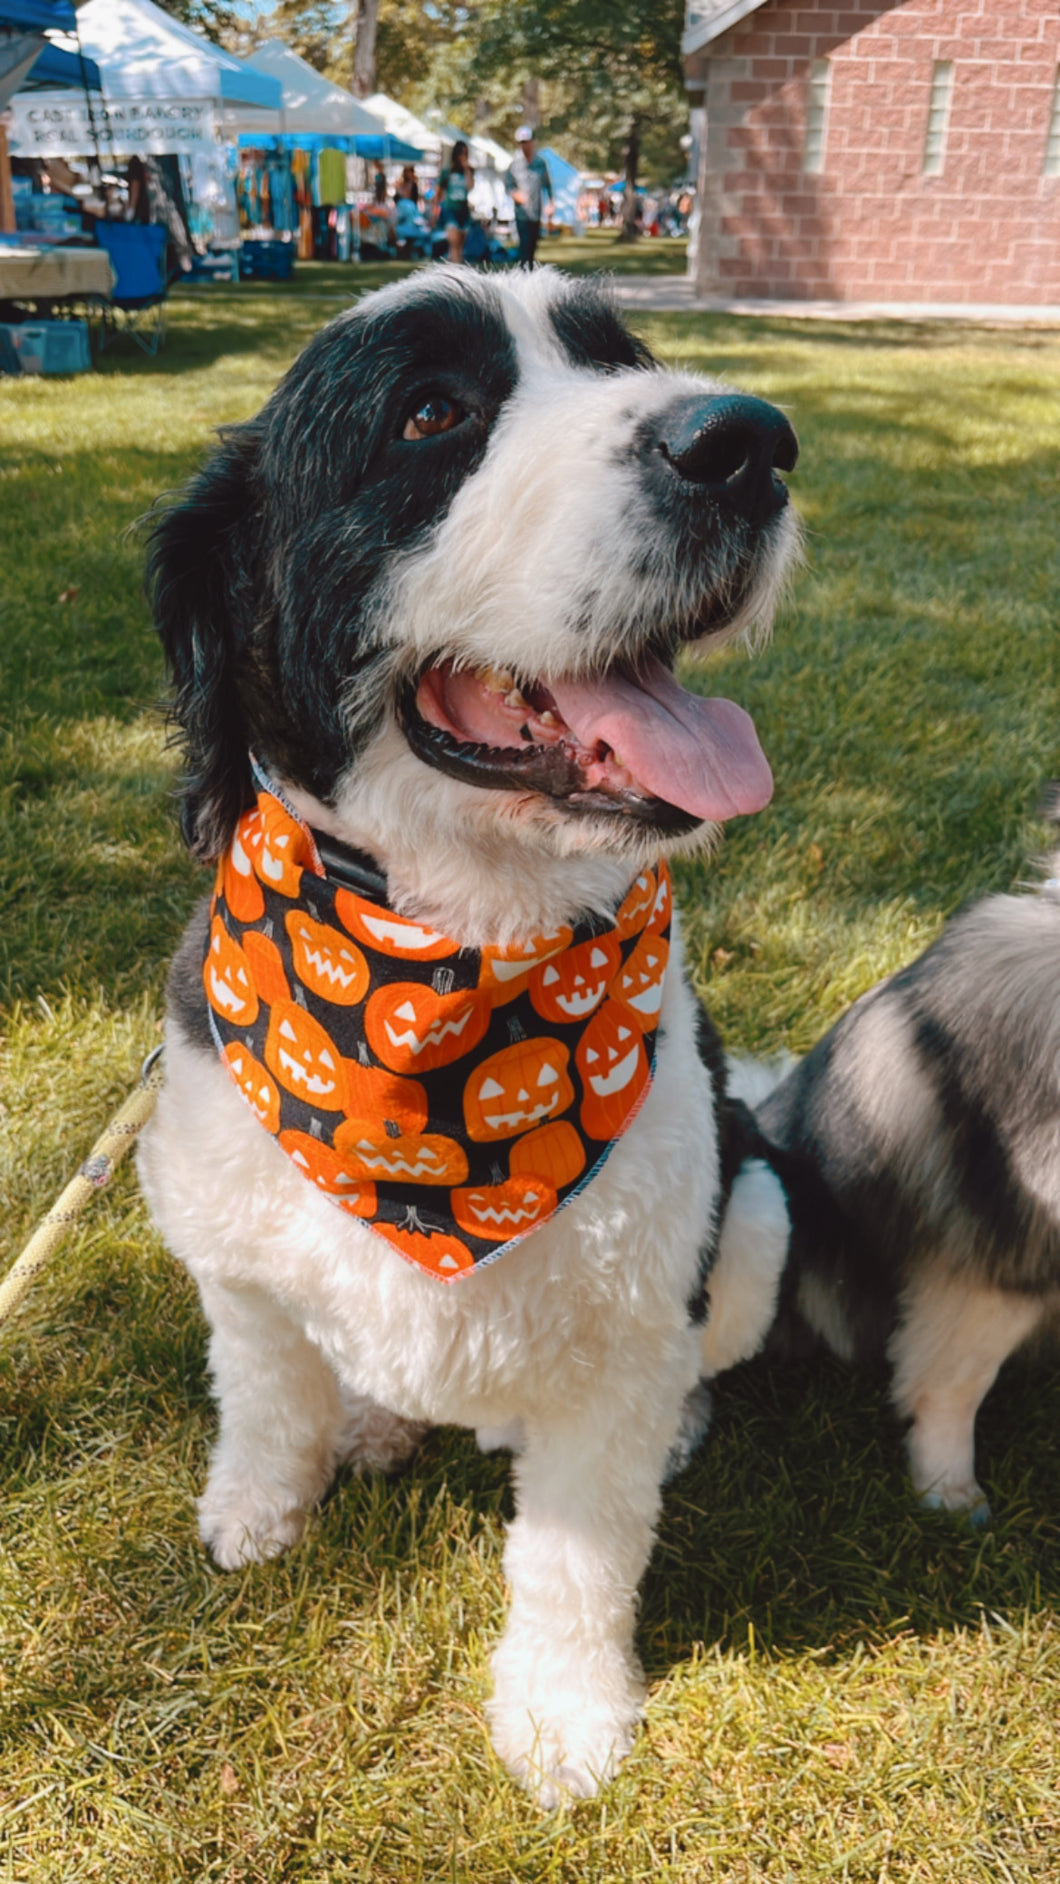
M352 309L309 343L256 418L222 433L158 518L147 580L198 855L220 853L252 799L249 746L331 799L384 710L373 597L482 462L514 384L491 292L426 284ZM405 441L427 394L456 401L463 422Z

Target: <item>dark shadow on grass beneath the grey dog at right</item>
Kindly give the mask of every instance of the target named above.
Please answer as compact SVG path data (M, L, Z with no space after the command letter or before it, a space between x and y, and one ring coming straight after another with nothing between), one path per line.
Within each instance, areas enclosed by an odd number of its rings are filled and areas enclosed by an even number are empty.
M1060 1601L1060 1375L1017 1362L987 1398L977 1530L924 1511L879 1373L757 1360L715 1389L712 1432L668 1488L638 1647L659 1679L697 1645L843 1656Z

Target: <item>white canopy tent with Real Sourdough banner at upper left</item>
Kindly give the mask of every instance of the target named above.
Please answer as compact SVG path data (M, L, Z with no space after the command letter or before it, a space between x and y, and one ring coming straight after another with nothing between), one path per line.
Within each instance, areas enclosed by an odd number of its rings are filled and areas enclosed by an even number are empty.
M87 0L81 45L100 66L94 126L72 92L24 92L11 102L15 156L79 156L100 141L104 162L134 154L217 149L226 111L254 107L279 130L282 87L213 45L154 0ZM75 45L72 45L75 49Z

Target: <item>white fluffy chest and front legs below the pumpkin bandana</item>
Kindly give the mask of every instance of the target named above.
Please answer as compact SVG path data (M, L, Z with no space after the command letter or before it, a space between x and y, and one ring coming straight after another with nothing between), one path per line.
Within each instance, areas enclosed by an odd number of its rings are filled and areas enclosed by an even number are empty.
M542 1803L591 1794L642 1705L634 1594L700 1373L685 1302L717 1187L693 1025L670 974L655 1083L601 1176L486 1275L448 1287L311 1189L220 1063L175 1031L141 1142L151 1210L211 1321L220 1436L200 1528L218 1564L294 1543L343 1456L390 1462L418 1421L522 1421L490 1720ZM350 1447L356 1396L401 1415L393 1439L377 1415L367 1453Z

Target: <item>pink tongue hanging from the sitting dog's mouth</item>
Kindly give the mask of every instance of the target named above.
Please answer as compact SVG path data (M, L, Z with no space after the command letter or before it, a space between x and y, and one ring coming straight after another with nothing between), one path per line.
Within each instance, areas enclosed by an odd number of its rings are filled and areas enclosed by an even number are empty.
M582 746L604 740L646 793L695 818L740 818L772 799L772 772L749 714L734 701L685 693L661 661L650 661L636 680L554 682L552 697Z

